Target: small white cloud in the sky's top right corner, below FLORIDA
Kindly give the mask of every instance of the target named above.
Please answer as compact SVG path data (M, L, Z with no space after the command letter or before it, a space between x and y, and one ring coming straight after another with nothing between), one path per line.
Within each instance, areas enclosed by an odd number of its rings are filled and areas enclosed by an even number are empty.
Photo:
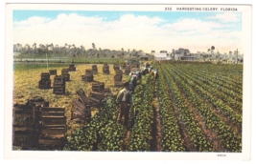
M221 13L216 14L215 16L207 17L206 19L218 19L223 23L239 22L241 20L241 16L238 13L226 12L226 13L222 13L222 14Z

